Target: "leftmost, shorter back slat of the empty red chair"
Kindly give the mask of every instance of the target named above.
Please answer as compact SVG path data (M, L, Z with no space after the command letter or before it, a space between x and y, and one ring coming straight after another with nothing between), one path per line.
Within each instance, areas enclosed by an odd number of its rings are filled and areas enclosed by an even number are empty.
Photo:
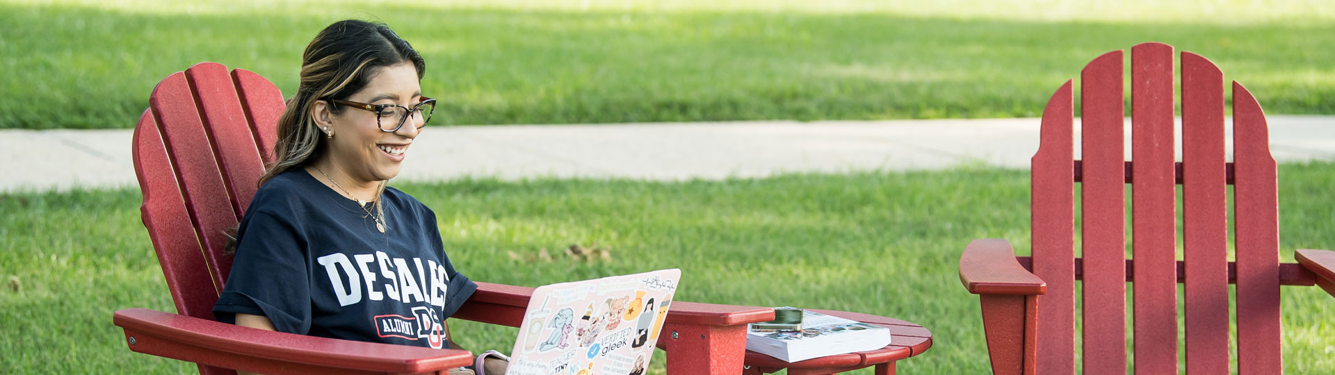
M1048 283L1037 299L1039 374L1075 374L1075 159L1072 95L1068 80L1043 111L1033 155L1031 226L1033 274Z

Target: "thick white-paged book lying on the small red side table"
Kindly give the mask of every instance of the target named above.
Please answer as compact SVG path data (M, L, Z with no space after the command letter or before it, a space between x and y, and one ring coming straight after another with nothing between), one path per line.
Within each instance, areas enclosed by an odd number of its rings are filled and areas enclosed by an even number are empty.
M826 355L878 350L890 344L890 328L802 311L801 331L748 330L746 350L800 362Z

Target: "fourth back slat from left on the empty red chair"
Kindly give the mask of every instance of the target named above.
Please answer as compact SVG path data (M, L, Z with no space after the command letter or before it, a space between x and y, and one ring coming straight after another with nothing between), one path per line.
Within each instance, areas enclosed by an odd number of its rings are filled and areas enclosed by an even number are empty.
M1187 374L1228 374L1224 77L1181 53Z

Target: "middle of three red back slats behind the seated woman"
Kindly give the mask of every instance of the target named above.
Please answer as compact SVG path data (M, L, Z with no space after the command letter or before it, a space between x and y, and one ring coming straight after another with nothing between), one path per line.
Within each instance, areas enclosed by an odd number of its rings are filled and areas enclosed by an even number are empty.
M214 155L223 176L236 220L255 196L255 181L264 173L264 164L255 148L246 113L227 67L199 63L186 69L190 88L199 104L199 113L212 140ZM242 199L246 196L246 199Z

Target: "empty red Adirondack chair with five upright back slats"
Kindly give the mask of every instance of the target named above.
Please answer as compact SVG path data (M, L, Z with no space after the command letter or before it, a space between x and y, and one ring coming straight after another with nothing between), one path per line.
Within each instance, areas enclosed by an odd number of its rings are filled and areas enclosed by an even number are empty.
M1123 157L1123 53L1080 75L1081 160L1073 157L1068 80L1043 113L1033 156L1032 258L1005 240L975 240L960 280L980 295L995 374L1075 374L1075 286L1081 280L1083 374L1127 374L1125 288L1132 283L1136 374L1177 374L1177 283L1184 283L1188 374L1230 374L1228 284L1236 283L1238 374L1282 374L1279 286L1335 295L1335 252L1299 250L1279 263L1275 160L1260 104L1234 81L1234 161L1226 163L1224 80L1181 53L1181 163L1173 161L1173 48L1131 49L1132 161ZM1135 168L1132 168L1135 167ZM1080 183L1080 254L1075 246ZM1125 259L1124 184L1132 184ZM1176 259L1181 184L1184 259ZM1234 185L1228 262L1226 184ZM1135 263L1132 263L1132 260Z

